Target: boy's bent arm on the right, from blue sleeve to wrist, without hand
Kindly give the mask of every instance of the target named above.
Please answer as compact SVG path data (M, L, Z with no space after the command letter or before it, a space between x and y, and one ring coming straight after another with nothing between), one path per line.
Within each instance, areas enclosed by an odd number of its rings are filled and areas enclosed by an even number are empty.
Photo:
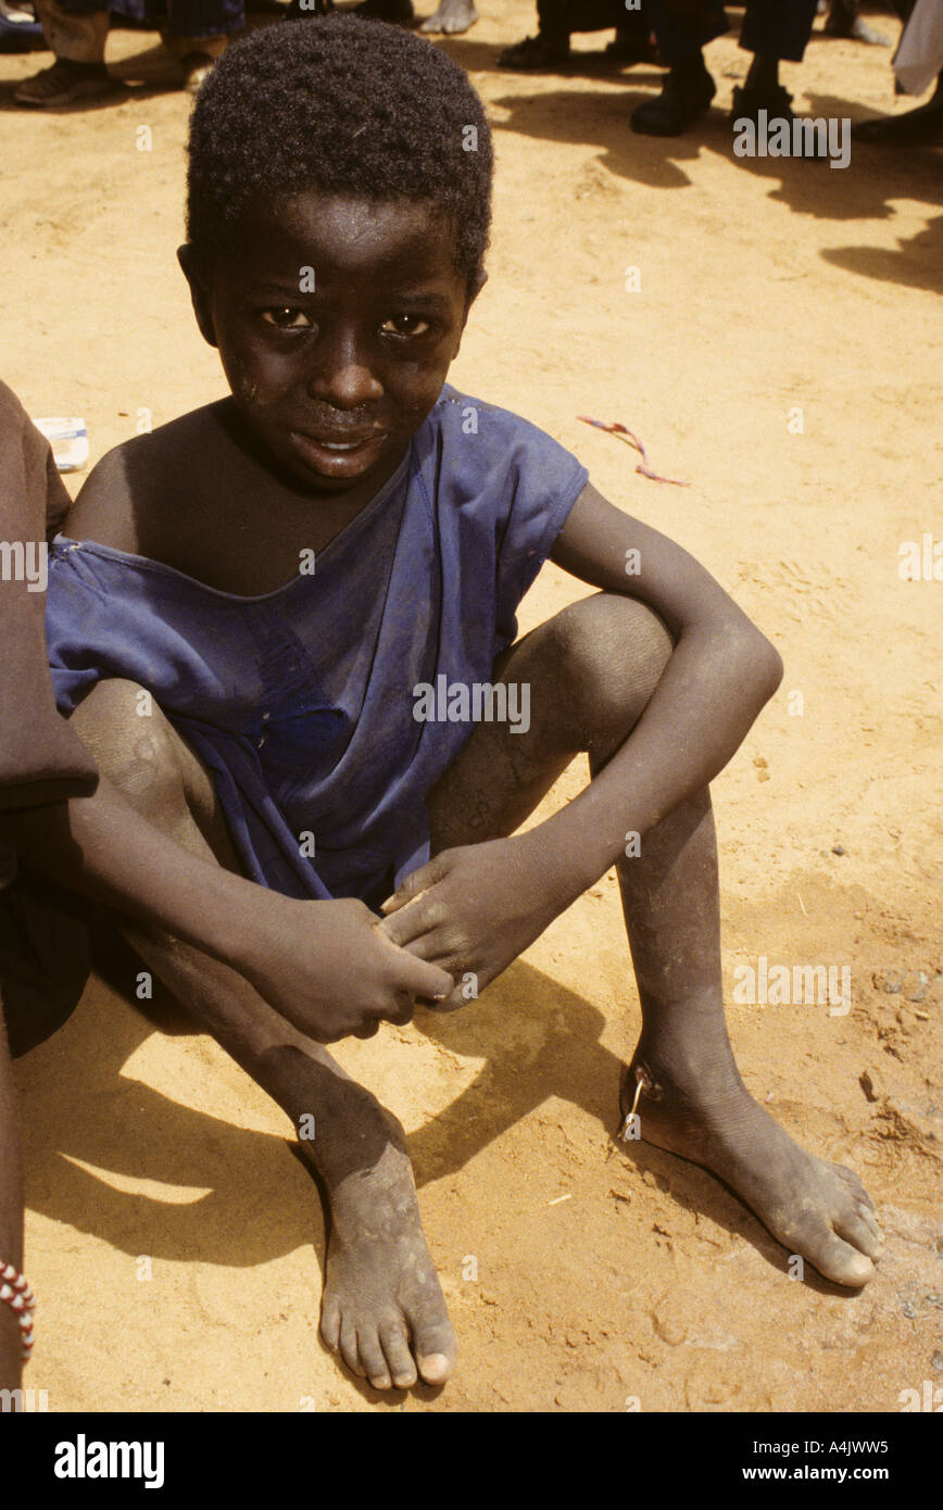
M576 897L623 853L626 832L645 834L713 781L778 687L783 663L688 551L614 507L591 485L573 506L552 560L594 587L638 598L674 640L674 654L623 747L573 802L533 830L543 844L567 855Z

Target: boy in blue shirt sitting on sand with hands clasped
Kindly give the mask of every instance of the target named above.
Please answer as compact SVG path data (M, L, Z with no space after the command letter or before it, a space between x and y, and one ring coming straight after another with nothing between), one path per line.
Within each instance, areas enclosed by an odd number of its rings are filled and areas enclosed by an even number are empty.
M830 1279L863 1285L878 1255L857 1176L750 1098L724 1025L707 784L780 658L555 441L446 385L490 183L481 101L416 36L328 17L233 47L196 101L180 251L231 396L106 456L50 566L59 707L134 823L281 892L304 935L307 998L289 982L274 1010L160 918L125 926L314 1116L322 1335L381 1389L443 1382L455 1336L402 1132L320 1045L462 1006L468 972L487 986L614 864L642 1006L624 1110L639 1087L642 1136ZM597 592L517 640L547 557ZM476 684L527 719L468 720ZM518 834L580 752L586 788ZM86 891L110 865L112 895L157 864L118 818L94 838L83 859L47 832L33 862Z

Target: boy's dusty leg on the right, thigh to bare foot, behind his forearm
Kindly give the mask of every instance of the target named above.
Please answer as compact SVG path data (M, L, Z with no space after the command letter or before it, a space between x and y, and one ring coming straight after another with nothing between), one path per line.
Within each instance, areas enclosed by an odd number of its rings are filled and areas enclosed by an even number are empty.
M434 850L514 832L580 750L601 769L641 717L671 652L629 598L573 604L502 657L500 680L530 686L530 728L481 723L429 797ZM632 1071L641 1132L706 1164L792 1252L861 1285L880 1243L851 1170L798 1148L747 1092L721 988L719 889L710 797L682 803L621 859L620 889L642 1007ZM632 1092L635 1074L630 1072Z

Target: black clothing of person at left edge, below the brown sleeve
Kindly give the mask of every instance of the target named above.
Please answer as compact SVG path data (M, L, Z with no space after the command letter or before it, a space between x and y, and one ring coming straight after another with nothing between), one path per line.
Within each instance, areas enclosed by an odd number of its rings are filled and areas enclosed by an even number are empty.
M71 1016L91 968L88 904L20 868L0 891L0 998L14 1059Z

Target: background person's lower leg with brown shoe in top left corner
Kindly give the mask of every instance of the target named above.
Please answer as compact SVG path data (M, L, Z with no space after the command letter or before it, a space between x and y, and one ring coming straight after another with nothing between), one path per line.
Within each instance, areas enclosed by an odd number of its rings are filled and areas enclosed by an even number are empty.
M17 104L59 109L116 89L104 66L107 0L35 0L36 20L56 62L14 94Z

